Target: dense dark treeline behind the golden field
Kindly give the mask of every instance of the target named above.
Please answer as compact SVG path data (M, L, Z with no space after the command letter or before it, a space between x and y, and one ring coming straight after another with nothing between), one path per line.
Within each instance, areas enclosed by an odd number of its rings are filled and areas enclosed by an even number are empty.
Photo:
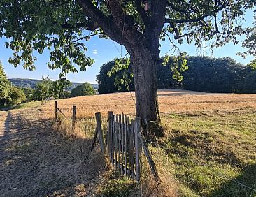
M161 60L162 61L162 60ZM229 57L187 57L187 71L182 73L183 80L178 82L173 79L171 72L171 62L166 66L157 66L157 87L158 89L174 88L187 89L200 92L234 92L234 93L256 93L256 71L249 66L236 63ZM122 78L122 71L108 77L108 71L115 65L115 61L110 61L101 66L101 71L97 76L99 83L99 93L122 92L126 90L125 85L115 82ZM127 71L125 71L127 72ZM129 66L131 73L131 66ZM133 79L131 79L130 89L134 90Z

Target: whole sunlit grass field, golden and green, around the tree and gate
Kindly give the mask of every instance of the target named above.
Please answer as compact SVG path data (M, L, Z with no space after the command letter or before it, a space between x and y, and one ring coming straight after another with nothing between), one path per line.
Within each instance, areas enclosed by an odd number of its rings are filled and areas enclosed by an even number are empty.
M148 164L143 161L141 185L109 171L94 188L95 194L256 196L256 94L205 94L166 89L158 95L165 136L157 140L157 145L150 145L150 151L165 191L155 189ZM101 112L105 131L108 111L124 112L131 117L135 114L133 92L80 96L57 102L68 118L72 105L77 106L76 131L71 131L71 121L64 119L58 129L68 138L92 138L95 112ZM38 103L24 105L22 110L35 105ZM53 119L54 105L54 101L49 101L37 107L41 118ZM78 142L74 140L74 143Z

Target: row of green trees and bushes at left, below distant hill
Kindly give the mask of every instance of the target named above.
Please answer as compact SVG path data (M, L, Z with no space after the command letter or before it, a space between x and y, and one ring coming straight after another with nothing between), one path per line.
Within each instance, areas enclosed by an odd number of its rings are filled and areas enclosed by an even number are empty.
M42 78L41 82L36 84L35 89L15 87L6 78L3 66L0 61L0 106L20 105L20 103L30 101L43 101L50 97L55 99L64 99L74 96L85 96L95 94L95 90L90 83L84 83L70 91L64 90L62 83L52 81L48 76Z

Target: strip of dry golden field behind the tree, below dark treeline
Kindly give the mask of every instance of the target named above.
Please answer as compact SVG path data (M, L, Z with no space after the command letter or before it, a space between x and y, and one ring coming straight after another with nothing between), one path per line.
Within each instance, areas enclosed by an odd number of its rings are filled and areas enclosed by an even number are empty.
M256 94L208 94L176 89L158 91L160 112L193 112L212 110L235 110L255 108ZM58 100L59 108L68 117L72 113L72 105L77 106L77 117L94 117L95 112L101 112L106 117L108 111L135 114L134 92L100 94L94 96L79 96L71 99ZM45 105L45 112L54 116L54 102Z

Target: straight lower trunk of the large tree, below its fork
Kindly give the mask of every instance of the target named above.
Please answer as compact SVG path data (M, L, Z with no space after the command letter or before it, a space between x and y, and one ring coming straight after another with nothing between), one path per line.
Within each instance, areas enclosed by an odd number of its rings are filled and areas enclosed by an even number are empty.
M147 127L159 120L156 62L145 48L133 48L129 54L134 73L136 117L141 117L143 126Z

